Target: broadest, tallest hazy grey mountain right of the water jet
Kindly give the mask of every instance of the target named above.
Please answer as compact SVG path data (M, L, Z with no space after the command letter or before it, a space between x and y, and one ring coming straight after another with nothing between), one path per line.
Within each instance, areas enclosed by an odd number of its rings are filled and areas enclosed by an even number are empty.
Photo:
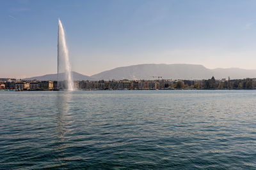
M203 79L211 78L213 72L202 65L195 64L140 64L135 66L117 67L109 71L95 74L96 80L150 80L152 76L164 79Z

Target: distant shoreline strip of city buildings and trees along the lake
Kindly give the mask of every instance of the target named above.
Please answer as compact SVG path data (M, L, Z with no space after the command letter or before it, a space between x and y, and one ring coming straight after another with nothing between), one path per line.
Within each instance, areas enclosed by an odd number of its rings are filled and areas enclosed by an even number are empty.
M0 81L0 90L44 91L68 89L67 81ZM253 90L256 89L256 78L239 80L98 80L74 81L73 89L77 90Z

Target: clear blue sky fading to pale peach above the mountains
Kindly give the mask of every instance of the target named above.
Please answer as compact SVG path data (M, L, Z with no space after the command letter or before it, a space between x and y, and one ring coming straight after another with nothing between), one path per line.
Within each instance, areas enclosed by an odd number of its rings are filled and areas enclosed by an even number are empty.
M72 70L135 64L256 69L256 1L0 1L0 78L57 73L58 18Z

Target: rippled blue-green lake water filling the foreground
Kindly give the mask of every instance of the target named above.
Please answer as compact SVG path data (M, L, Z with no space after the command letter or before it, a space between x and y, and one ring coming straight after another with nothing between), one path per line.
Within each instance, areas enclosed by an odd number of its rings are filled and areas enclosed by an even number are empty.
M256 90L0 91L0 169L256 169Z

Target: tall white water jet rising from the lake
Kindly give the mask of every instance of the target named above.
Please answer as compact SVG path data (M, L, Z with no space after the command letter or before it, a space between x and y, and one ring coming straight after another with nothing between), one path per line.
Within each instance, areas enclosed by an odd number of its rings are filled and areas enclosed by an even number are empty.
M58 22L58 89L63 89L64 82L65 89L74 90L74 81L71 74L71 65L68 57L68 47L65 38L65 31L63 29L63 25L61 24L60 18Z

